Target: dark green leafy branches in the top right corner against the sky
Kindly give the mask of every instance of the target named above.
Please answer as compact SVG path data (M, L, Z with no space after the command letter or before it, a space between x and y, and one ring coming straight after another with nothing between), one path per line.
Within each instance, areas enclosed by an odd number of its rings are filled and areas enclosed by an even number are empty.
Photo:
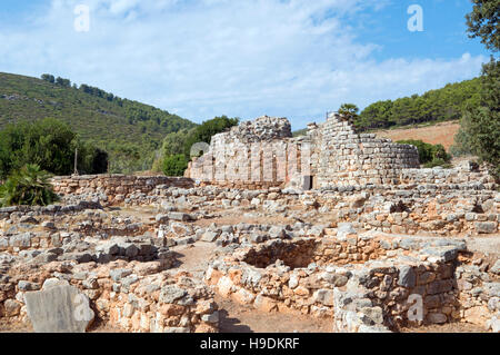
M472 12L466 16L470 38L481 38L487 49L497 52L500 49L499 0L471 0Z

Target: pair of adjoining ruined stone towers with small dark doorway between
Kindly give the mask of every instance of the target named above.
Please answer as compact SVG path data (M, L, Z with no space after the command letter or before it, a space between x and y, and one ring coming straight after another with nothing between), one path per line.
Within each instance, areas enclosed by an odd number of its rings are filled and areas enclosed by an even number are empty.
M417 148L358 135L339 115L309 126L292 138L286 118L261 117L212 137L206 154L193 159L188 177L229 187L316 187L397 184L401 169L418 168Z

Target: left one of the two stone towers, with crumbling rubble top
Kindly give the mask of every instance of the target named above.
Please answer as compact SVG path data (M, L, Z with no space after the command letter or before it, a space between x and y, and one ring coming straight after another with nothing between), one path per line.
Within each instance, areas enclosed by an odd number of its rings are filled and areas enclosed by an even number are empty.
M186 176L231 188L281 186L301 170L301 151L307 149L291 137L286 118L242 122L213 136L209 151L190 162Z

